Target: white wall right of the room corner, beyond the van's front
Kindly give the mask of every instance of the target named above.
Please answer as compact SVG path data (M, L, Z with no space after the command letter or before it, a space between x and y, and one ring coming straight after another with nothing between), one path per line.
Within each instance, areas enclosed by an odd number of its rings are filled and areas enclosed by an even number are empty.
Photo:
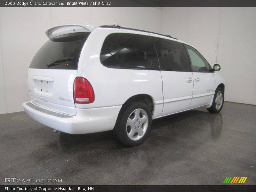
M256 105L255 7L165 7L161 26L220 64L226 101Z

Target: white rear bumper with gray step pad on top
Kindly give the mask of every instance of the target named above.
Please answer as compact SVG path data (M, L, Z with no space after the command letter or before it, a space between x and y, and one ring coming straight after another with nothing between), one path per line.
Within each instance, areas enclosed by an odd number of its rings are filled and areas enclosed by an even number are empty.
M69 116L39 107L31 101L22 103L22 106L26 113L39 123L71 134L112 130L122 107L76 108L76 116Z

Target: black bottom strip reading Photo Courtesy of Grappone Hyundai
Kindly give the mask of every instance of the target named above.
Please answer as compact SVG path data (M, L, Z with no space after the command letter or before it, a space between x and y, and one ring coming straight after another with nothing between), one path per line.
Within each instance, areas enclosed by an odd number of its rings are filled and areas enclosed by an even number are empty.
M181 186L181 185L92 185L92 186L82 186L82 185L2 185L0 186L0 191L3 192L148 192L148 191L161 191L161 192L254 192L256 191L256 186L253 185L201 185L201 186Z

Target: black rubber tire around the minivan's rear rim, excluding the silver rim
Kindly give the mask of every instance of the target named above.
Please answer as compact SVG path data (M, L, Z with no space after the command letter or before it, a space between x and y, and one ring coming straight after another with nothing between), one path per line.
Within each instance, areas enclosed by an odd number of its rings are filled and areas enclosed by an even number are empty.
M135 109L140 109L140 108L145 110L148 115L148 128L142 138L134 141L134 140L131 140L127 135L126 123L127 123L129 116L131 115L132 111L134 111ZM151 112L150 112L148 105L146 105L145 103L141 103L141 102L132 102L124 107L124 110L120 114L119 118L120 118L119 123L117 124L117 127L116 127L116 135L117 135L118 139L124 145L132 147L132 146L140 145L142 142L144 142L146 140L146 138L150 132L150 129L151 129L151 124L152 124L152 116L151 116Z

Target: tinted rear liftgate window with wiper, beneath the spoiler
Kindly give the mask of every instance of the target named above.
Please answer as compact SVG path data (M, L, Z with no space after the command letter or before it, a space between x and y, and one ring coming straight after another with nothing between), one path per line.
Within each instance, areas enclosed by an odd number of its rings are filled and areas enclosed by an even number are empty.
M29 68L77 69L82 47L91 32L78 32L53 37L36 53Z

